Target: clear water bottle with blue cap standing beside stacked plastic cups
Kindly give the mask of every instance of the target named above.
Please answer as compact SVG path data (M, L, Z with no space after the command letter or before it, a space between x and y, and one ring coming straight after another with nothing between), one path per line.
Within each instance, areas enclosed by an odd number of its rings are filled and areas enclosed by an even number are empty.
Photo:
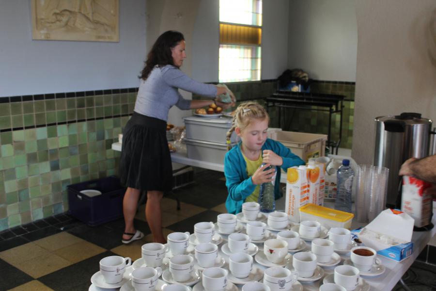
M338 178L338 192L336 194L335 209L351 213L351 187L354 172L350 167L350 160L343 160L336 174Z

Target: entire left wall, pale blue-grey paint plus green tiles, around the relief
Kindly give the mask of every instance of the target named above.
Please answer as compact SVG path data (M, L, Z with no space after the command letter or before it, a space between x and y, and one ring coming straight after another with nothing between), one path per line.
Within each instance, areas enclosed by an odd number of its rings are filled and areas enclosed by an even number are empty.
M145 1L120 1L119 43L32 41L30 2L0 2L0 231L67 211L67 185L117 174L110 148L145 56Z

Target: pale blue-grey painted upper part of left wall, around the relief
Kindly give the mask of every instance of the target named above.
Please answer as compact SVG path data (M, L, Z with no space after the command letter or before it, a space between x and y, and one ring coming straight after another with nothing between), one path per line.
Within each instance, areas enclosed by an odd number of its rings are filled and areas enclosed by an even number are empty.
M145 1L120 1L120 42L31 38L31 1L0 2L0 97L138 87Z

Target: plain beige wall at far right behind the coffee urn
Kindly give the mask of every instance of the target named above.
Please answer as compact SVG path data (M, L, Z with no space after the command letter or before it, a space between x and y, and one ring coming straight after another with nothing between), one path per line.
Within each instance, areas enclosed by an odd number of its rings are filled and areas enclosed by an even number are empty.
M436 2L358 1L352 157L372 163L374 118L418 112L436 120Z

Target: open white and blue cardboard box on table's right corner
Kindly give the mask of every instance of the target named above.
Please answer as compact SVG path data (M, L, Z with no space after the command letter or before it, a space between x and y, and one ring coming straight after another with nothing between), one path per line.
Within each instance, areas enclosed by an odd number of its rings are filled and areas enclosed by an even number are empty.
M352 232L363 244L376 250L378 255L400 262L412 254L413 224L413 218L407 213L387 209L367 226Z

